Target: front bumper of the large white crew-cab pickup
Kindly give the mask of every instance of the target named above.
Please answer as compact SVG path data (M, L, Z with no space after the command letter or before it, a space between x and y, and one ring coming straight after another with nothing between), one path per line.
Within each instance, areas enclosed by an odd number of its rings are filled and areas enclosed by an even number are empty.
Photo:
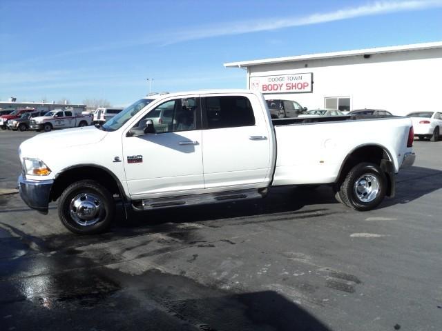
M42 214L48 214L50 189L54 181L52 179L44 181L31 181L23 178L19 179L20 197L26 204Z

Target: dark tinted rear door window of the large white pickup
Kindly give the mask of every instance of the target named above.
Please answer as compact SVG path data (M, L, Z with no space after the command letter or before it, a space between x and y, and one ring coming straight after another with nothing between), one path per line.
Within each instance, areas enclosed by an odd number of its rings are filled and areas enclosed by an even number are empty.
M255 125L253 109L246 97L207 97L204 101L207 129Z

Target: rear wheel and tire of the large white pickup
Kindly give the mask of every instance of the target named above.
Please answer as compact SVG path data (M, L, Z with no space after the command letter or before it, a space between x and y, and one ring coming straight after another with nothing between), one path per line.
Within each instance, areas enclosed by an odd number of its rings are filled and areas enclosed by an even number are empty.
M374 163L359 163L349 171L338 192L340 200L359 211L372 210L384 199L387 177Z

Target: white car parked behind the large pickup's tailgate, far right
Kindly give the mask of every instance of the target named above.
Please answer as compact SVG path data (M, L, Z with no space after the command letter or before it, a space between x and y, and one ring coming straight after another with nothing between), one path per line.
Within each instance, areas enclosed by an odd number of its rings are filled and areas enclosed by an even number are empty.
M414 137L438 141L442 130L442 112L412 112L407 114L413 122Z

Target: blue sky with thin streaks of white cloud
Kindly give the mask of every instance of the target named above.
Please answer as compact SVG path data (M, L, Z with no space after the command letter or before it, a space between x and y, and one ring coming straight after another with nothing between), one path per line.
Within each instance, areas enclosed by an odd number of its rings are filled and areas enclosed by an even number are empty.
M0 101L126 106L246 88L223 63L442 41L442 0L0 0L0 14Z

